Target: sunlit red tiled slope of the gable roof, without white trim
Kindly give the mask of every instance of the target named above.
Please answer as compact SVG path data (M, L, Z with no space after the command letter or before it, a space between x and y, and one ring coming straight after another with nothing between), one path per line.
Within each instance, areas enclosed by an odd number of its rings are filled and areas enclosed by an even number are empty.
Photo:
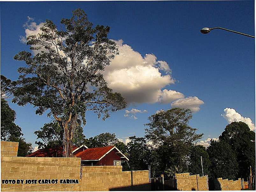
M105 155L113 147L114 146L89 148L89 149L85 149L84 151L80 151L74 155L76 157L80 157L82 161L99 160L103 155Z

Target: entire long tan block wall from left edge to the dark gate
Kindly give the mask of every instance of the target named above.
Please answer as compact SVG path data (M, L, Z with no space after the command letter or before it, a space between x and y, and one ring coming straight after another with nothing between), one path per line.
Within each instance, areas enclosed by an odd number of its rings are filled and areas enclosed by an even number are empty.
M18 143L1 141L1 180L17 181L18 179L25 182L25 180L58 179L58 183L4 184L1 181L2 191L109 191L151 188L147 170L122 171L122 166L82 166L81 168L80 158L17 157L17 151ZM77 179L79 183L61 184L60 179Z

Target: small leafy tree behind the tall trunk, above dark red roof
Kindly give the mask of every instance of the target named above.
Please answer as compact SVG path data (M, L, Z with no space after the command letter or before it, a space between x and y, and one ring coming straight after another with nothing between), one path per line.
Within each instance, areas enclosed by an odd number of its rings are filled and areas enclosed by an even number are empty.
M40 130L34 132L39 141L35 144L40 148L54 148L63 144L63 128L58 122L45 123ZM40 141L41 140L41 141ZM81 146L84 143L85 136L82 127L75 130L73 144Z

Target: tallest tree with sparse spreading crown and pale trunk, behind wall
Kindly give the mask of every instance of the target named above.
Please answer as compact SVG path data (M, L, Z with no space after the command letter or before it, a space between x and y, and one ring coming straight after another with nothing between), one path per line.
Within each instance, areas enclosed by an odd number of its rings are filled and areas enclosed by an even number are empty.
M86 123L86 111L102 120L126 107L120 93L108 88L101 71L118 54L115 42L107 38L110 27L93 24L81 9L70 19L61 19L65 30L46 20L40 33L27 37L27 45L36 54L21 51L15 60L25 61L20 67L12 102L37 107L36 114L50 110L64 130L64 154L72 156L72 140L77 122Z

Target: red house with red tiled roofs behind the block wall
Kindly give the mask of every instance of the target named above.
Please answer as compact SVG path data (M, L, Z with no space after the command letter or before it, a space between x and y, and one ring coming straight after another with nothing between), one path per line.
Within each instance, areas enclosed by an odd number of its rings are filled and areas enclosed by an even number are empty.
M38 149L27 157L62 157L63 147ZM115 146L88 148L86 145L73 146L73 156L81 158L81 165L121 165L129 159Z

